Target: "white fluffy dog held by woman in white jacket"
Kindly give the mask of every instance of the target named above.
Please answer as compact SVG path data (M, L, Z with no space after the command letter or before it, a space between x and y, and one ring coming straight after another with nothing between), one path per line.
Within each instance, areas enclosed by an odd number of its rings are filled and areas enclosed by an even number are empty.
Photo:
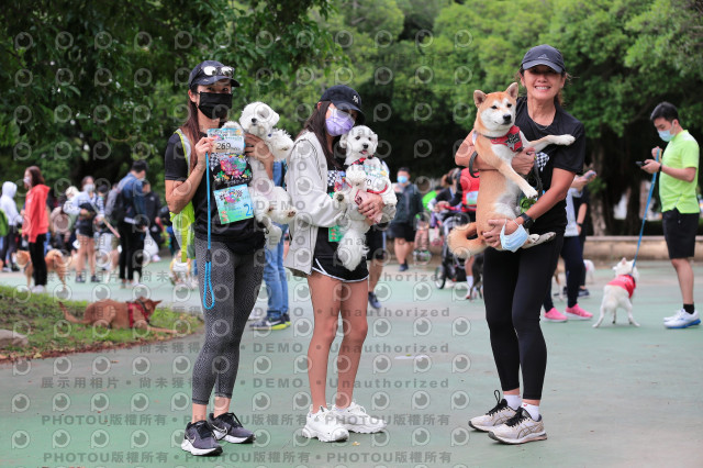
M367 193L381 196L386 205L395 205L398 199L381 161L373 157L378 136L371 129L364 125L353 127L339 138L339 146L347 151L344 164L348 168L345 188L335 192L335 199L347 207L346 219L341 223L344 235L337 247L337 257L346 269L354 270L368 252L365 235L370 229L358 205ZM381 215L373 221L381 221Z

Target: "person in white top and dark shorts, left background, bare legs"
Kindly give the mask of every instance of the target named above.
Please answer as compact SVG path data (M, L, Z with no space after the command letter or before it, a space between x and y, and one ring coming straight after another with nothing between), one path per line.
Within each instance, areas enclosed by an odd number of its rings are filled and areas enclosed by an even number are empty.
M82 191L64 204L64 211L77 215L76 237L78 238L78 259L76 261L76 282L86 282L83 267L86 258L90 267L90 281L98 282L96 276L96 242L93 239L94 223L104 218L102 199L96 192L91 176L83 177L80 182Z

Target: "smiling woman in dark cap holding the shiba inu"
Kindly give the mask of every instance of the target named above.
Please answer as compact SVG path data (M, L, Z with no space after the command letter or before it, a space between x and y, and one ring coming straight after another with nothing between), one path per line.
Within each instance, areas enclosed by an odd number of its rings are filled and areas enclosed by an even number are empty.
M487 414L471 419L469 424L505 444L547 438L539 415L547 367L547 346L539 328L539 312L563 241L567 224L565 198L573 176L583 167L585 153L583 125L561 108L560 94L567 79L561 53L549 45L531 48L523 57L518 78L526 97L517 99L515 125L525 137L536 141L547 135L570 134L576 141L570 146L549 145L537 153L534 160L545 191L514 222L505 224L505 220L491 220L489 225L493 229L483 233L492 247L501 246L503 227L503 237L513 234L520 225L529 229L531 234L556 233L553 241L528 249L515 253L494 248L486 250L486 317L504 399L501 400L496 391L498 404ZM457 164L466 165L466 156L473 153L469 147L471 137L467 137L465 147L457 153ZM478 168L487 169L480 159ZM522 170L523 174L527 171Z

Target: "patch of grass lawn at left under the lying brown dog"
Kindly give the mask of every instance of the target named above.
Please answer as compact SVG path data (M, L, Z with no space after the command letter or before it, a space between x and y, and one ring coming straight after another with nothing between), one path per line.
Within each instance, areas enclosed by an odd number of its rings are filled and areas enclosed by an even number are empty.
M82 317L86 301L62 302L77 317ZM176 328L175 336L189 335L202 325L200 316L176 313L167 308L157 308L152 325ZM148 333L141 330L112 330L68 323L64 320L56 299L51 294L31 294L26 289L0 286L0 328L15 330L27 337L29 346L0 348L0 363L19 358L37 359L70 353L97 352L115 347L131 347L144 343L169 339L165 333Z

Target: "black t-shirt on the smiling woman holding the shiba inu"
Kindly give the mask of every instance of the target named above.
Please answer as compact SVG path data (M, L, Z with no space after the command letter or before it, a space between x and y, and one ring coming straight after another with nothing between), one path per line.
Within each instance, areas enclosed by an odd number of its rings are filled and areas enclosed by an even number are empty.
M570 146L549 145L537 153L537 166L544 190L551 186L551 171L554 168L580 172L583 169L585 157L585 132L583 124L556 104L557 112L554 121L547 127L535 123L527 112L527 99L517 99L515 125L525 134L525 137L534 142L547 135L572 135L576 141ZM567 202L561 200L549 211L535 220L529 232L543 234L546 232L563 233L567 225Z

